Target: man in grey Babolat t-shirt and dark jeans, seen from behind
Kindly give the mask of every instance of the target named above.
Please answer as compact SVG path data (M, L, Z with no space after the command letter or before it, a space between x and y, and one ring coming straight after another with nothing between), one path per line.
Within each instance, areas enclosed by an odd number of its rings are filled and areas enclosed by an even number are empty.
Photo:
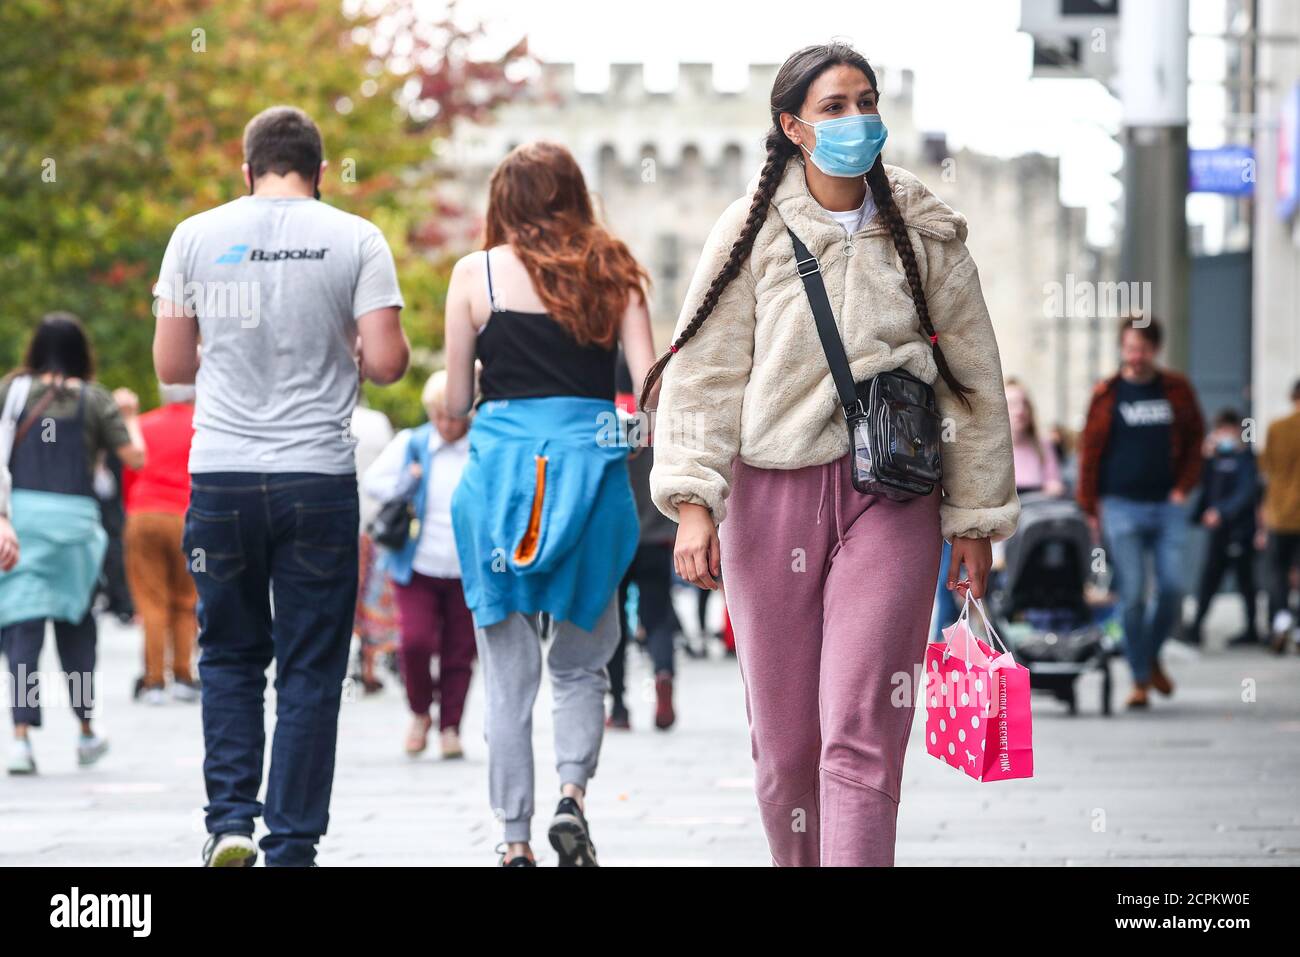
M358 584L350 430L359 376L400 378L393 256L370 222L320 200L324 148L299 109L244 130L251 195L177 226L155 290L153 363L195 382L185 551L199 590L204 849L307 866L325 832ZM274 598L274 615L272 602ZM265 807L266 667L277 724Z

